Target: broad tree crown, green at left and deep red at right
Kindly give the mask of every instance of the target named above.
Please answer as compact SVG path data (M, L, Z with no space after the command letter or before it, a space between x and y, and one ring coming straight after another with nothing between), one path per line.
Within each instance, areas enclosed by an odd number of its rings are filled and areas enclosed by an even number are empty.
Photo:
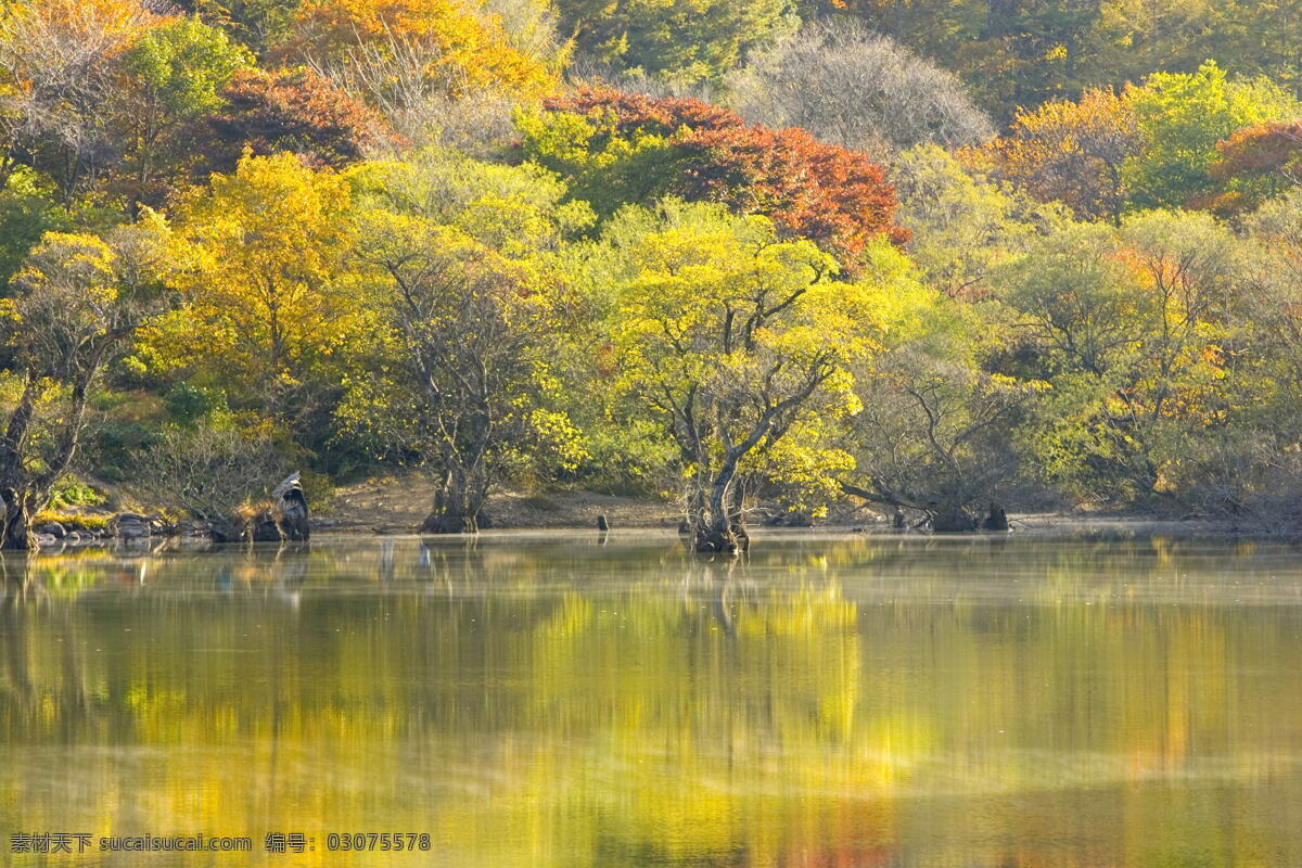
M573 178L574 195L599 215L665 195L719 202L771 217L852 268L879 236L907 238L893 225L893 190L881 169L805 130L749 126L698 100L586 88L547 107L547 115L521 121L525 152Z

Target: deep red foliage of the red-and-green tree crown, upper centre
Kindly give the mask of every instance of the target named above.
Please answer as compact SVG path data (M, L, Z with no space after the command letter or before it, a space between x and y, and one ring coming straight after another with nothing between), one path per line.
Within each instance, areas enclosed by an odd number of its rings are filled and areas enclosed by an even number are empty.
M867 155L824 144L802 129L751 126L728 109L693 99L652 99L582 88L547 109L615 118L617 134L658 134L677 148L672 193L767 215L784 230L811 238L848 265L878 236L909 239L894 225L894 187Z

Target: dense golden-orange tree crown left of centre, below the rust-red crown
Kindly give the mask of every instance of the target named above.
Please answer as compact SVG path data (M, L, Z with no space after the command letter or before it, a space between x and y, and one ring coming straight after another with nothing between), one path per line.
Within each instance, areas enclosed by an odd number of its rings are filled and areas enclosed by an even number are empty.
M145 358L294 420L329 390L365 312L345 267L345 178L297 157L246 155L180 210L184 305L150 329Z

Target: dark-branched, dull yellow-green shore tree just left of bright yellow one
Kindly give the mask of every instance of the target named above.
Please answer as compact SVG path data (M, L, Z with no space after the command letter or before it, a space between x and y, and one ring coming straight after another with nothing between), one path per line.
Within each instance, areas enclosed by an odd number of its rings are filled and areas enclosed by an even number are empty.
M372 215L359 255L384 288L392 363L346 410L400 414L397 442L437 467L423 531L475 532L490 487L510 470L552 455L573 467L577 432L546 406L562 321L551 286L419 217Z

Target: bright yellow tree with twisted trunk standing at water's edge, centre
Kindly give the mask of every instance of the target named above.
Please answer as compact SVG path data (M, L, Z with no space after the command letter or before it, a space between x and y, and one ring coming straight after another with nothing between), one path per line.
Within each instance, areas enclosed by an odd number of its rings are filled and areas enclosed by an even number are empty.
M615 390L676 444L698 549L737 550L738 475L858 409L848 366L875 350L889 288L833 282L809 241L717 206L630 210L605 239L630 265L611 323Z

